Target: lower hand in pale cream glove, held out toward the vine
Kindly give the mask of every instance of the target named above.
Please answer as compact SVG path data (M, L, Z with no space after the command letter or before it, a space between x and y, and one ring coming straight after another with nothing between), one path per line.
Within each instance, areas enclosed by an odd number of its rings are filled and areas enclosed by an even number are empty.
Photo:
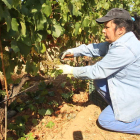
M73 74L73 67L69 65L57 65L57 70L63 70L63 74Z

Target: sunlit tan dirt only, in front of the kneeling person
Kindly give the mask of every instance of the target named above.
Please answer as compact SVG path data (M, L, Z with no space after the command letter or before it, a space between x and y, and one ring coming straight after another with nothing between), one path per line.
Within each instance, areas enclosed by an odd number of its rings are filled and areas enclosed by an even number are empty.
M64 105L61 110L67 110L69 115L54 117L55 127L44 129L41 122L38 127L41 132L34 131L35 135L42 136L40 140L139 140L140 136L122 134L103 130L98 126L97 118L101 113L99 107L88 104L86 107ZM70 113L72 110L73 113ZM66 112L65 112L66 113ZM71 115L71 117L70 117ZM44 118L44 121L51 118Z

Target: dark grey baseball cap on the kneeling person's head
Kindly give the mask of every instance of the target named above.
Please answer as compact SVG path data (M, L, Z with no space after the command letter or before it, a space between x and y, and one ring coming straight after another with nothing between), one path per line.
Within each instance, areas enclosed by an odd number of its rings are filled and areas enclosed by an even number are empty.
M128 11L126 11L126 10L124 10L122 8L113 8L105 16L96 19L96 22L104 23L104 22L113 20L115 18L122 18L122 19L132 20Z

